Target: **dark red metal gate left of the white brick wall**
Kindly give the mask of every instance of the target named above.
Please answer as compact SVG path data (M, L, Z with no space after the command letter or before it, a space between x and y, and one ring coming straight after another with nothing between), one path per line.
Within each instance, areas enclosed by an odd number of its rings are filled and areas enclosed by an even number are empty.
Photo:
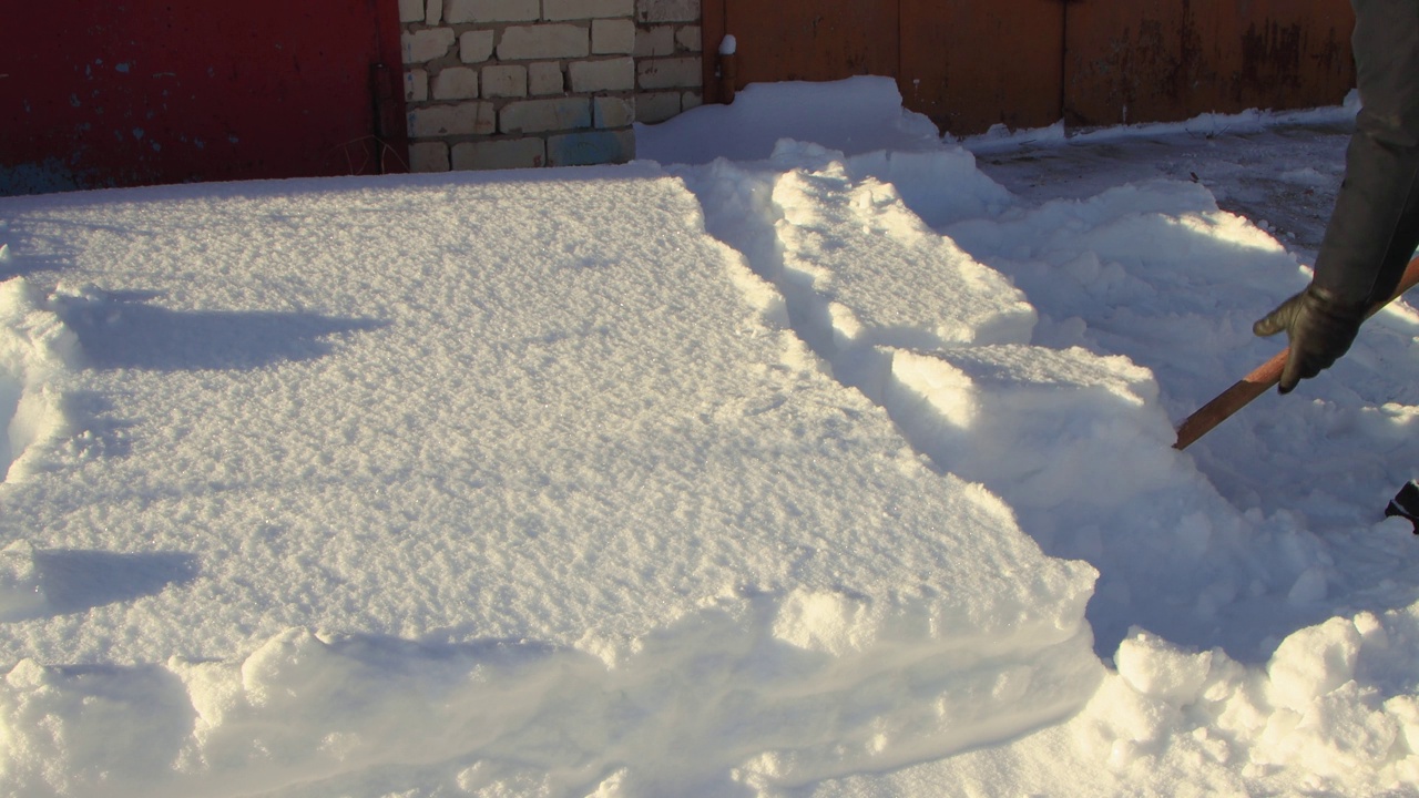
M407 160L396 0L10 6L0 195Z

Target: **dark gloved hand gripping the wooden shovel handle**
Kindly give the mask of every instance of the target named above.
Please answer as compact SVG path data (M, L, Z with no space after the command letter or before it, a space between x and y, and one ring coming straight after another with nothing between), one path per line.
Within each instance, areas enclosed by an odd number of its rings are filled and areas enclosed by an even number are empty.
M1366 310L1340 301L1328 290L1313 284L1253 324L1252 332L1257 335L1276 335L1284 329L1291 342L1281 369L1280 392L1290 393L1298 382L1321 373L1348 352Z

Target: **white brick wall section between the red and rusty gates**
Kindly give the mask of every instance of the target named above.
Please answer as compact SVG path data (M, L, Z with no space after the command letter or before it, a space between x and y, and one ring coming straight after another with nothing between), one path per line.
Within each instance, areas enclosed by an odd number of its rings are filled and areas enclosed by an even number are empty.
M700 104L700 0L399 0L410 169L629 160Z

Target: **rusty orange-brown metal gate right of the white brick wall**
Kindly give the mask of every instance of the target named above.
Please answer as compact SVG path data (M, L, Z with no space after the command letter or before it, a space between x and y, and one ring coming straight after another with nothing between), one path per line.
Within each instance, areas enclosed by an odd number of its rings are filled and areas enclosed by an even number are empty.
M897 80L955 135L1334 105L1354 85L1349 0L702 0L736 81ZM715 58L705 98L719 99Z

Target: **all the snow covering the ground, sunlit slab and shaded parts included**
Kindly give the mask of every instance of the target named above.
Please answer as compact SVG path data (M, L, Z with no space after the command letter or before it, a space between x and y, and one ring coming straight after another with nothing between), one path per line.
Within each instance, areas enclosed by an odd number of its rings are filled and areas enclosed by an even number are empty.
M1419 315L1172 449L1352 114L0 200L3 792L1419 791Z

